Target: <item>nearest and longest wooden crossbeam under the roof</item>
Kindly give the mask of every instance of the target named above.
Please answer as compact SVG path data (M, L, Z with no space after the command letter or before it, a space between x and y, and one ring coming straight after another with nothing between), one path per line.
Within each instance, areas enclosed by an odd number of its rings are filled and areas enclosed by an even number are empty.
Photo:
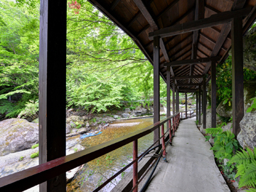
M135 0L138 1L138 0ZM239 16L247 16L251 11L251 8L240 9L238 11L225 11L220 14L214 14L209 18L203 18L198 21L188 21L175 26L167 28L161 28L159 31L149 33L149 39L152 40L154 36L160 36L160 38L175 36L182 33L188 33L190 31L196 31L202 28L208 28L210 26L218 26L223 23L230 23L233 18Z

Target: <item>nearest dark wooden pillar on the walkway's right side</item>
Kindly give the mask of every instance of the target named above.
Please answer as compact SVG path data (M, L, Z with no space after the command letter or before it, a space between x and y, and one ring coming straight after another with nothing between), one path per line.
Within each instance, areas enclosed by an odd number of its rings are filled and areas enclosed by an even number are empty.
M242 18L233 18L231 24L232 38L232 108L233 133L238 136L240 121L244 116L243 92L243 50L242 50Z

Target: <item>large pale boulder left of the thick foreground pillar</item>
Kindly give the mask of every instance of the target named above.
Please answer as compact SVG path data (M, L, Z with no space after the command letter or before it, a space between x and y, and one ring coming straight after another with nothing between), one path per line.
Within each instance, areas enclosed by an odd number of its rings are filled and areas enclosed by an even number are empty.
M26 119L0 122L0 156L30 149L38 143L38 124Z

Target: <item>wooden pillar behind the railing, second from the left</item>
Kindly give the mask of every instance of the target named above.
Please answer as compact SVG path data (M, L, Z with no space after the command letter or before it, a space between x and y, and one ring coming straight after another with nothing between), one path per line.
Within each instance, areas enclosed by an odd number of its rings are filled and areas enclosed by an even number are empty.
M160 120L160 84L159 84L159 36L154 37L154 123ZM154 142L159 139L160 129L154 130ZM160 142L156 143L156 145Z

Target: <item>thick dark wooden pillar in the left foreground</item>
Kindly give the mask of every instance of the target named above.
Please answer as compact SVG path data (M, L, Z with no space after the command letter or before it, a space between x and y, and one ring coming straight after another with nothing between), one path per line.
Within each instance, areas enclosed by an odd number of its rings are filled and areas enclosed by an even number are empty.
M41 0L40 9L39 164L43 164L65 156L67 1ZM39 188L65 191L65 174Z

